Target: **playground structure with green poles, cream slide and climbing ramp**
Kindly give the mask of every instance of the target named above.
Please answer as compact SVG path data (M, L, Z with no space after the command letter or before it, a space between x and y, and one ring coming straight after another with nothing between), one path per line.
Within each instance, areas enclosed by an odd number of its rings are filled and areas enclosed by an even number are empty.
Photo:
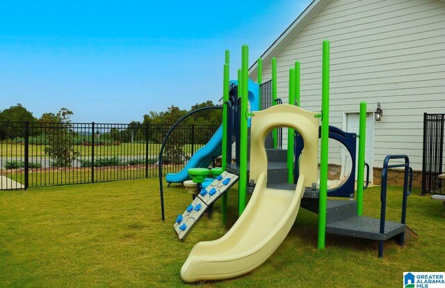
M318 214L318 249L320 250L325 248L326 233L377 240L379 241L379 257L383 255L383 244L387 239L398 237L399 243L403 245L407 229L405 225L407 195L410 194L412 181L409 159L406 155L387 156L382 170L380 218L363 216L363 192L368 185L368 179L364 185L366 103L360 103L359 135L330 127L329 50L329 42L324 41L320 113L300 108L300 63L298 62L289 71L289 104L280 104L277 98L275 58L272 60L272 99L270 101L272 106L263 111L252 109L249 111L249 100L251 108L252 101L259 101L258 108L264 108L264 106L261 105L262 95L257 99L248 97L248 47L244 45L242 49L241 70L238 70L236 93L234 93L236 82L232 82L231 85L229 81L229 52L226 51L223 86L223 165L221 169L226 174L220 179L215 179L206 189L200 190L200 194L207 195L228 176L231 179L229 180L231 185L238 179L238 214L240 217L222 238L195 245L181 269L181 278L185 282L233 278L248 273L261 265L280 246L291 230L300 205ZM258 67L258 83L261 87L261 58ZM249 122L249 119L252 122ZM320 121L321 127L319 126ZM286 150L277 147L279 142L277 128L279 127L288 129L288 149ZM317 187L319 138L321 138L320 184ZM327 189L329 138L339 141L346 147L353 158L353 166L355 166L356 139L359 139L356 192L354 189L354 167L349 178L339 187ZM236 162L232 163L232 145L234 143L236 145ZM249 154L250 161L248 161ZM404 163L390 164L391 159L402 159ZM400 223L385 220L387 170L396 167L405 169ZM232 175L236 177L232 177ZM367 175L369 175L369 168ZM204 202L200 195L195 198L175 223L175 230L180 239L191 229L191 225L204 214L209 204L218 198L222 199L222 221L227 223L227 189L214 191L215 197L211 202ZM248 191L253 191L253 195L247 204ZM327 196L343 199L328 200ZM344 198L348 199L344 200ZM163 214L162 186L161 211ZM191 212L196 215L193 217L191 225L186 225L186 217L190 216ZM164 215L162 217L164 219ZM180 228L181 225L184 229Z

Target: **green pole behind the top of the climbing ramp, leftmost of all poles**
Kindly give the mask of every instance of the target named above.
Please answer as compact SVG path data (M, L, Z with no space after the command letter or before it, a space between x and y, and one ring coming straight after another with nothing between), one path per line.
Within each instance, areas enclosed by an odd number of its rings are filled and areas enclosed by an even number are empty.
M221 168L225 171L227 164L227 102L229 102L229 50L225 51L224 77L223 77L223 156ZM229 191L221 196L221 222L227 225L227 197Z

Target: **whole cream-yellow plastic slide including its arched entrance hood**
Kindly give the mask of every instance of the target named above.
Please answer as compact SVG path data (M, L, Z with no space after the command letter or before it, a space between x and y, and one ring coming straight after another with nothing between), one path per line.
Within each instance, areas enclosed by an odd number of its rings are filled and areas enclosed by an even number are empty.
M250 163L250 178L255 182L252 198L227 234L193 247L181 269L184 282L223 280L249 273L277 250L296 220L305 186L316 182L318 118L314 115L291 105L255 112L250 147L250 159L255 159ZM296 191L266 187L264 138L274 127L293 127L305 140Z

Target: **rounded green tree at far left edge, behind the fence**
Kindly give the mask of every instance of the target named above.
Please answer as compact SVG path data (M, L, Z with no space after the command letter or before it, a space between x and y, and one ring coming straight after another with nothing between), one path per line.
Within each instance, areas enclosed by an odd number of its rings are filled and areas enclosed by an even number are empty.
M12 139L24 136L23 125L20 123L35 121L33 113L29 112L22 104L17 103L0 112L0 140Z

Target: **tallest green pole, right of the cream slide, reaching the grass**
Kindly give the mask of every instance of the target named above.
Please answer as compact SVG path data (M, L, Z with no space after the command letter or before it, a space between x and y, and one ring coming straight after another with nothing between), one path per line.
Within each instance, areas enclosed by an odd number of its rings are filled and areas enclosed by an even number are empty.
M329 41L323 41L323 78L321 80L321 157L320 194L318 196L318 249L325 248L327 164L329 157Z

